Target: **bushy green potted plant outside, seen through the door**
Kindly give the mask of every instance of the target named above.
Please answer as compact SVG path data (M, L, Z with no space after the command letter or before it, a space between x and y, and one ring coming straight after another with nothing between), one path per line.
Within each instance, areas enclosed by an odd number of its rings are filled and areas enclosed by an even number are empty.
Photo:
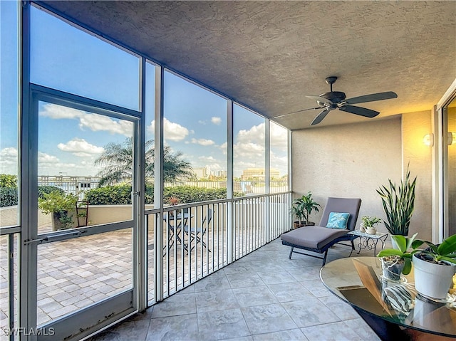
M52 214L53 231L73 227L73 211L76 211L78 197L74 194L51 192L38 198L38 208L44 214Z

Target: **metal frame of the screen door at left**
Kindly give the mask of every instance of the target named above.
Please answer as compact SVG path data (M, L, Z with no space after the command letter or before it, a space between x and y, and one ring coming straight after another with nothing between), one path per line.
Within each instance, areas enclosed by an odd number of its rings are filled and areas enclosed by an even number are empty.
M80 340L103 327L126 318L138 312L141 307L138 297L143 290L140 283L140 243L143 229L140 219L143 215L142 196L140 189L143 179L140 177L140 127L142 114L123 107L81 98L77 95L63 93L58 90L31 84L28 110L22 110L21 122L21 326L26 330L36 330L37 325L37 271L38 245L63 241L80 236L101 234L120 229L133 229L133 288L123 293L102 300L98 303L77 310L71 315L58 318L41 327L41 335L26 335L27 340ZM100 115L108 115L121 120L128 120L133 124L133 186L132 186L132 219L112 224L91 226L90 228L72 229L70 233L55 231L38 234L38 103L46 101L57 105L72 107L78 110L87 110ZM94 320L102 318L94 325ZM77 321L75 323L74 321ZM52 329L51 329L52 328ZM81 331L82 330L82 331ZM33 334L33 333L32 333ZM40 334L39 331L36 334Z

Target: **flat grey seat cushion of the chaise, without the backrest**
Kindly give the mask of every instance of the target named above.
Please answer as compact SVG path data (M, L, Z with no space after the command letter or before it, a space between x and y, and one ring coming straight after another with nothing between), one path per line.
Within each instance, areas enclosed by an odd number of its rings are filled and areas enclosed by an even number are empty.
M281 235L281 240L304 248L323 248L336 238L348 233L345 229L328 229L322 226L304 226Z

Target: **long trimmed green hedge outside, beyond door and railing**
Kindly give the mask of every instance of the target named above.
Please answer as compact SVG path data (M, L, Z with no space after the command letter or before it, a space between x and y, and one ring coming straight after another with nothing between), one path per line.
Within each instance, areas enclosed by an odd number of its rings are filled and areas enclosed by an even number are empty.
M234 196L243 196L241 192L235 193ZM163 199L167 202L171 196L179 199L180 204L187 204L199 201L209 201L217 199L225 199L227 197L227 189L207 189L202 187L177 186L165 187L163 189ZM90 189L86 192L86 200L90 205L115 205L115 204L131 204L131 186L130 185L114 185ZM145 203L153 204L154 189L147 186L145 191Z

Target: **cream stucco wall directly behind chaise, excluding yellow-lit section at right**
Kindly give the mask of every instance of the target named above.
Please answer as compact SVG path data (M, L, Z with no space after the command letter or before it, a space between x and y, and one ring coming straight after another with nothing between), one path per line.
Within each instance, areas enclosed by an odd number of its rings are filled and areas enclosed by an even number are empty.
M388 178L400 179L400 117L298 130L293 132L292 143L295 196L311 191L322 206L328 196L361 198L357 229L363 215L385 218L375 190ZM320 218L321 211L311 221ZM378 230L386 231L383 224Z

